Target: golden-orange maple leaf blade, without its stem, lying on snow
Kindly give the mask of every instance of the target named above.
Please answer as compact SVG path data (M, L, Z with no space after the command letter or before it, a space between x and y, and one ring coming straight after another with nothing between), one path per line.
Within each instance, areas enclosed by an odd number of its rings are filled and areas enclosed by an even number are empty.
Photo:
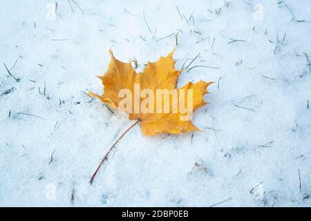
M174 49L175 50L175 49ZM113 52L109 50L111 55L111 61L109 68L103 76L97 76L102 80L104 85L104 93L102 95L96 95L90 92L89 95L99 98L104 104L107 104L111 108L120 109L120 102L124 99L120 97L120 90L126 89L131 91L135 97L135 93L141 93L144 89L148 89L149 92L156 94L158 89L175 89L179 96L182 95L181 90L186 91L183 94L185 103L191 99L191 112L196 108L209 104L204 102L204 95L208 93L207 86L213 82L199 81L196 84L191 82L187 83L182 88L176 88L178 77L182 70L176 70L174 65L176 60L173 59L174 50L167 55L167 57L160 57L156 62L148 62L142 73L136 73L131 66L131 62L124 63L115 59ZM139 85L139 91L135 90L135 85ZM191 95L188 91L191 89ZM189 97L190 96L190 97ZM145 97L138 97L139 104L146 104ZM149 100L148 103L156 104L156 97L153 100ZM187 103L188 104L188 103ZM180 100L173 99L173 96L169 97L169 110L173 110L174 107L180 105ZM148 105L147 105L148 106ZM144 113L143 111L135 110L135 99L132 101L130 108L125 111L129 113L129 119L137 119L140 121L142 133L144 135L158 135L160 133L180 134L182 132L199 131L191 119L183 119L185 113L180 110L177 112L158 113L158 108L162 110L164 108L164 102L160 102L160 107L156 107L156 111ZM189 108L189 104L187 106ZM189 111L189 110L188 110Z

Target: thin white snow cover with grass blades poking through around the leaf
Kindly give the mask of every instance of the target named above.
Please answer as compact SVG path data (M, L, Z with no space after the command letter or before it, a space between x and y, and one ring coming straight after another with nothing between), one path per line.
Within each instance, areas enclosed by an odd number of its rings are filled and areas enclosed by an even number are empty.
M0 206L311 206L309 0L0 6ZM102 93L109 48L141 71L176 38L176 68L219 68L178 81L215 81L205 132L135 126L90 185L133 122L83 92Z

